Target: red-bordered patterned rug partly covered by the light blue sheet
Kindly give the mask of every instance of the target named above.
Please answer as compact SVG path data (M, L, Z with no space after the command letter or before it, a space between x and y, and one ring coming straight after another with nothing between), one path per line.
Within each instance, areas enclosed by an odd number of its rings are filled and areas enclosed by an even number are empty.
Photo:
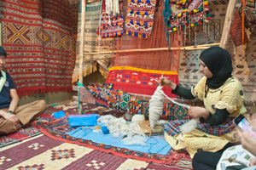
M148 154L135 150L127 150L124 148L113 147L107 144L98 144L90 140L78 139L67 135L66 133L73 131L75 128L70 127L67 118L56 119L55 121L42 123L35 122L35 126L39 127L41 132L53 139L58 139L63 142L84 145L85 147L101 150L106 153L112 153L115 156L125 158L133 158L139 161L148 161L166 165L178 164L179 161L191 161L191 158L186 153L177 153L174 150L169 150L166 156L157 154Z

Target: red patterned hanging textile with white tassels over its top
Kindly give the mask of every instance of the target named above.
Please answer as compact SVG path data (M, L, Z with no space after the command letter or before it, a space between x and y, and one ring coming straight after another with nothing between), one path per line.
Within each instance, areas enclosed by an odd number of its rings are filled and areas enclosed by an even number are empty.
M111 3L111 4L108 4ZM113 4L112 4L113 3ZM119 6L114 5L118 3ZM110 6L110 7L109 7ZM113 8L109 11L109 8ZM114 12L118 8L119 12ZM116 9L117 11L117 9ZM124 11L122 0L102 0L102 18L100 34L102 38L119 37L124 34Z

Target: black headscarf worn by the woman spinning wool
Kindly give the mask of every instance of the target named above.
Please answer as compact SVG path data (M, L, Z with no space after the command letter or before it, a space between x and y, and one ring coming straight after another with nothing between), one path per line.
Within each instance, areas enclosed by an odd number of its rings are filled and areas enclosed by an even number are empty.
M232 61L230 53L224 48L207 48L200 54L199 59L212 72L212 78L207 78L207 86L209 88L219 88L231 77L233 71Z

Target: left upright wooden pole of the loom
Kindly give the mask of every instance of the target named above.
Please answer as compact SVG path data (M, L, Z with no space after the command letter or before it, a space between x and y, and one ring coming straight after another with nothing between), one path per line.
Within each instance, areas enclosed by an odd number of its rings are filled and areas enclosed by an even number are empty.
M86 8L86 0L82 0L81 2L81 31L80 31L80 50L79 50L79 83L83 84L84 79L84 30L85 30L85 8ZM79 92L78 92L79 93ZM79 107L82 109L82 104L79 102ZM82 111L79 110L79 114Z

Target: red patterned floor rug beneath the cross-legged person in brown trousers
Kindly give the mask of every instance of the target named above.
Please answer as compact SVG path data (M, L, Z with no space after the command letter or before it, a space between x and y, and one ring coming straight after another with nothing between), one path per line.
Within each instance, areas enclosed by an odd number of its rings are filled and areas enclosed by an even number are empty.
M60 111L60 110L49 106L47 110L44 111L44 113L37 118L37 120L50 121L52 119L51 115L56 111ZM40 129L38 127L30 126L26 128L21 128L16 133L0 136L0 148L7 146L9 144L15 144L24 139L32 138L33 136L37 136L38 134L41 134Z

